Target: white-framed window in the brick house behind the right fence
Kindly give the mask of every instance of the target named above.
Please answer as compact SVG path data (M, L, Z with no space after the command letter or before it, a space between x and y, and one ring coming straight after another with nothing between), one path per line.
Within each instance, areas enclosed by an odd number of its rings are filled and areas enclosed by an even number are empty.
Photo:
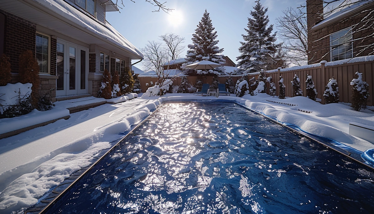
M331 61L353 57L352 28L346 28L330 35Z

